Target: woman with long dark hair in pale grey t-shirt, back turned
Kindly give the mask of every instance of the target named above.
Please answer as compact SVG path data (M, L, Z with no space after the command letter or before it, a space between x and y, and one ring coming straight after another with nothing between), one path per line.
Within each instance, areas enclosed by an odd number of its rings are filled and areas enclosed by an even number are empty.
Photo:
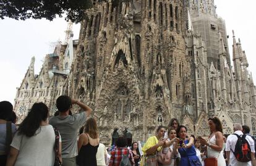
M54 128L48 123L48 117L49 110L43 102L33 104L14 135L7 166L54 165L56 135ZM58 150L61 161L60 142Z

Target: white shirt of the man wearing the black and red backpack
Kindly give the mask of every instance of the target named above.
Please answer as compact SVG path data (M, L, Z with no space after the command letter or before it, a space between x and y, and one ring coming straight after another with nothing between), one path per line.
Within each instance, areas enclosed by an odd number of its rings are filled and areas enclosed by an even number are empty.
M237 135L243 135L242 131L235 131L234 132ZM246 136L245 139L248 141L250 145L250 151L255 152L255 147L254 147L254 139L252 139L250 136ZM231 166L251 166L252 162L239 162L237 161L236 157L234 156L234 151L236 147L236 141L237 141L237 136L236 135L229 135L227 138L226 142L226 151L230 151L230 156L229 156L229 164ZM232 151L231 151L232 149Z

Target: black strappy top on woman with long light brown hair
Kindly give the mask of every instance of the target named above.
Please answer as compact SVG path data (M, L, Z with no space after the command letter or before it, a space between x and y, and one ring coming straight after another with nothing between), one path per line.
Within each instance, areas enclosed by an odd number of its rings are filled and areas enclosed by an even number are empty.
M92 146L88 138L88 144L80 148L79 155L77 156L77 165L97 166L96 153L98 151L98 147L99 145Z

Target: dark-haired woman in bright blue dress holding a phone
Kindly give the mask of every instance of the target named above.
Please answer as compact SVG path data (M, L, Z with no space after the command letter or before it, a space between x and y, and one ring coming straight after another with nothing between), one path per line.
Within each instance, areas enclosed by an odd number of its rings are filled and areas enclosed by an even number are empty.
M179 141L179 154L181 154L182 166L202 166L200 160L197 157L197 152L195 151L194 138L190 136L187 138L187 128L180 125L177 128L177 136Z

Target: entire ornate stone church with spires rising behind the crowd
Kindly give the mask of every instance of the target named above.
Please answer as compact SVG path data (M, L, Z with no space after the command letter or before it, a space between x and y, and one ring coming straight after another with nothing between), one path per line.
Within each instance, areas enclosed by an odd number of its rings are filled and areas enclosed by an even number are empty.
M93 108L106 144L121 133L145 141L174 117L197 136L209 135L213 115L224 133L239 122L256 135L245 51L233 32L231 59L214 0L92 3L79 39L58 44L39 75L32 58L15 97L19 122L34 102L45 102L53 115L56 98L66 94Z

